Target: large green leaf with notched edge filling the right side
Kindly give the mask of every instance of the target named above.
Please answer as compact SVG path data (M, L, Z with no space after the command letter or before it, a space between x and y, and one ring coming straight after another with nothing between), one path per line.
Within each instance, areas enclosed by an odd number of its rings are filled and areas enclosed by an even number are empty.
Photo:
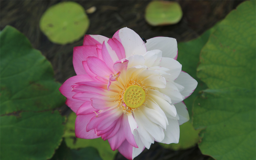
M217 26L201 51L198 77L208 85L194 105L199 148L214 159L255 159L255 1Z

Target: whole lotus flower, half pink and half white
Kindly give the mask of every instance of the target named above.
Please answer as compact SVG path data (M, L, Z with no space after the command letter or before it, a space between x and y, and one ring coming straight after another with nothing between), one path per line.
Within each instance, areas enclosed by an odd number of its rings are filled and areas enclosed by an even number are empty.
M179 125L189 120L183 99L197 81L176 61L176 39L145 43L129 28L112 38L85 35L74 47L73 76L60 87L76 113L76 137L108 140L133 159L155 141L178 143Z

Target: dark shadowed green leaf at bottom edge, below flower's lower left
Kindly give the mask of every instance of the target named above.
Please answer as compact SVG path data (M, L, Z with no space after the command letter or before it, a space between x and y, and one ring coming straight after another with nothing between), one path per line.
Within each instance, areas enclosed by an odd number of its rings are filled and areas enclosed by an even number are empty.
M62 141L51 160L102 160L98 151L93 147L80 150L70 150L65 141Z

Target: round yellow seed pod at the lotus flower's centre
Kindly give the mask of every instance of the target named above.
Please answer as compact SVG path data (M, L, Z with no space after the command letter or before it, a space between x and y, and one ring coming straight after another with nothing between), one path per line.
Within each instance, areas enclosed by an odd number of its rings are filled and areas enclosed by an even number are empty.
M140 107L146 99L146 93L142 87L138 85L129 86L124 94L123 101L130 108L138 108Z

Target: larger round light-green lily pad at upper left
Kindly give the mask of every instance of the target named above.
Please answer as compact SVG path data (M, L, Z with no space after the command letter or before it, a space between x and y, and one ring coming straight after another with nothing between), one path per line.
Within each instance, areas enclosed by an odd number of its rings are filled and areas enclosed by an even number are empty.
M67 44L79 40L89 28L84 8L73 1L49 7L40 19L40 29L53 43Z

